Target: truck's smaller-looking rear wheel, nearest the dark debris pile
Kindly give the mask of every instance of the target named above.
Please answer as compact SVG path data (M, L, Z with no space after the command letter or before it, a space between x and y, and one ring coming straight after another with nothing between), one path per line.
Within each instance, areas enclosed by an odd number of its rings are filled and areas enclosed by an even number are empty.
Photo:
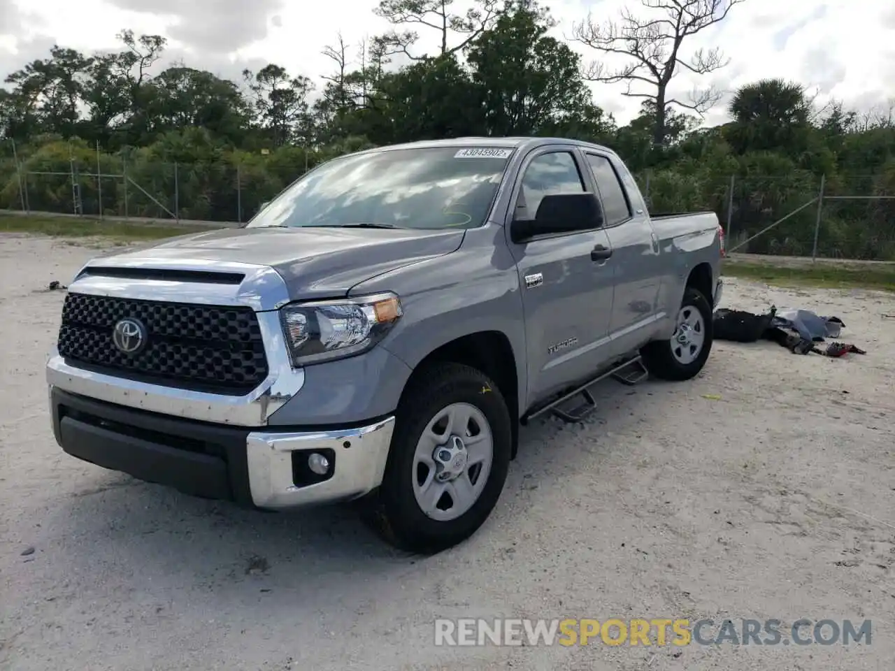
M688 286L675 319L674 334L647 344L641 356L651 375L680 382L695 378L712 352L712 307L702 293Z

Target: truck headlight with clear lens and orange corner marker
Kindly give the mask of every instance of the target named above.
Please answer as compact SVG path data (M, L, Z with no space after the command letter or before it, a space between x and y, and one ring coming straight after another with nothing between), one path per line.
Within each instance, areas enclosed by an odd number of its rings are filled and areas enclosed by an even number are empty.
M366 352L402 314L394 293L377 293L344 301L286 305L280 310L280 320L292 362L301 366Z

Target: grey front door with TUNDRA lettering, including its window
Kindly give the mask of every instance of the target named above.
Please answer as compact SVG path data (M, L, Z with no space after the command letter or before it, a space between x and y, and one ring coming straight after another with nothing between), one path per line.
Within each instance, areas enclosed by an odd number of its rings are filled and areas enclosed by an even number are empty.
M599 222L518 244L510 239L514 215L533 219L545 195L591 191L583 158L574 148L536 149L519 174L506 233L523 292L531 404L599 368L609 342L615 259L606 257L609 237Z

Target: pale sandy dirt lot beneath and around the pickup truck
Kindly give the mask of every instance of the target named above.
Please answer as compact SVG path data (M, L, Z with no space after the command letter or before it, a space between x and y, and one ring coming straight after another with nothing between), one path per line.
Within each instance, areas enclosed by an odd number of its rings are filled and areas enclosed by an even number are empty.
M243 511L63 454L43 365L64 293L46 288L96 253L0 238L0 667L891 668L891 294L730 280L727 306L837 315L869 353L722 343L688 383L601 383L586 424L524 429L498 508L473 539L420 558L381 544L347 508ZM785 634L803 617L871 619L873 638L434 645L437 617L498 616L776 618Z

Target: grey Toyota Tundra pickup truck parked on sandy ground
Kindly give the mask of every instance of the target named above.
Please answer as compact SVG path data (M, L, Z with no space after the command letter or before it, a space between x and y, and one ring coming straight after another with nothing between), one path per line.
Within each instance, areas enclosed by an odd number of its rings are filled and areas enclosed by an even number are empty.
M438 552L496 505L520 424L609 376L693 378L723 234L649 217L604 147L417 142L338 157L248 225L90 261L47 362L82 460L260 509L357 500Z

